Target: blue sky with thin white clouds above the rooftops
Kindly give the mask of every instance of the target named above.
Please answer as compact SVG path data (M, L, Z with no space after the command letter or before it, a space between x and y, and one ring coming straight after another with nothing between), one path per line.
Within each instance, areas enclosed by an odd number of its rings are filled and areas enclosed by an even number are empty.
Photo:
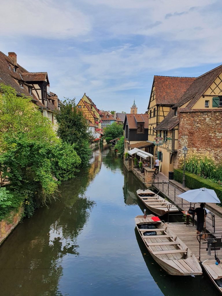
M197 77L222 64L222 2L1 0L0 50L47 72L62 100L147 110L154 75Z

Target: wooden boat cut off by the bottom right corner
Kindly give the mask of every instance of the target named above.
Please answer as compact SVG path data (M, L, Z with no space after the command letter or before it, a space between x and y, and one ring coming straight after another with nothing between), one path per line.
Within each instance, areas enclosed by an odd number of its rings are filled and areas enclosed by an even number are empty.
M206 271L207 275L213 281L215 287L222 294L222 263L215 264L215 260L205 260L202 262L202 266Z

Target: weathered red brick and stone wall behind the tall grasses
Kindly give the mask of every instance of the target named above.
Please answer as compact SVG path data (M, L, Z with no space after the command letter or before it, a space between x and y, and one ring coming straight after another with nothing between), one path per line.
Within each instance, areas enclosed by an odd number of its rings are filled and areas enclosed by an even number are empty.
M222 112L180 112L178 108L179 136L175 167L183 156L186 146L197 152L210 152L216 162L222 161Z

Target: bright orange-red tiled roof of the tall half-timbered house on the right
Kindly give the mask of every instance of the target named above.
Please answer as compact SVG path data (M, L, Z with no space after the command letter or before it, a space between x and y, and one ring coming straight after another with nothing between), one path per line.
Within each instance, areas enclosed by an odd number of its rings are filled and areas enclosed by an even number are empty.
M195 77L173 77L155 75L153 79L153 85L155 84L156 104L176 104L194 80ZM151 96L152 91L150 94L150 100Z

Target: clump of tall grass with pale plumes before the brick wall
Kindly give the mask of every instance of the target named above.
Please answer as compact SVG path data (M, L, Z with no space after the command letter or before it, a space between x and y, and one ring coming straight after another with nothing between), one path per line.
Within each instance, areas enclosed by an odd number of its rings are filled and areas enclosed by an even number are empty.
M181 168L183 168L183 165L181 166ZM187 172L199 176L213 176L215 170L214 158L208 152L197 153L189 151L186 156L185 169Z

